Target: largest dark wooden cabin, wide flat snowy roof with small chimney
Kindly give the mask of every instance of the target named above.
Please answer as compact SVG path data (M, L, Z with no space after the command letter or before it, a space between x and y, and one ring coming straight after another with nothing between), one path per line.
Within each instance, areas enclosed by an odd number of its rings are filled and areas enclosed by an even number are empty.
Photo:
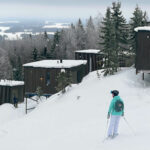
M56 78L61 70L70 71L73 83L86 75L85 60L42 60L24 64L25 93L35 93L41 87L43 94L56 93Z

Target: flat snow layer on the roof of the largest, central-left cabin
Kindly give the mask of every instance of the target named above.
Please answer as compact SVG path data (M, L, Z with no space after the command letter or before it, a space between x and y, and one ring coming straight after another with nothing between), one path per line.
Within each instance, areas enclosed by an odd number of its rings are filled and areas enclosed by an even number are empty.
M72 68L80 65L85 65L86 60L41 60L24 64L24 67L40 67L40 68Z

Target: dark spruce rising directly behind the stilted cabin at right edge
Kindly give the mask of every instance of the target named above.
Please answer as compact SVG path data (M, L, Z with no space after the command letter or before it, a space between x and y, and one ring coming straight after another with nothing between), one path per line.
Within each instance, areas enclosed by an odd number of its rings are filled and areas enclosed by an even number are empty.
M148 16L146 12L143 12L139 6L137 5L133 16L130 19L130 51L135 53L136 52L136 41L135 41L135 31L134 28L139 26L147 26L148 25Z

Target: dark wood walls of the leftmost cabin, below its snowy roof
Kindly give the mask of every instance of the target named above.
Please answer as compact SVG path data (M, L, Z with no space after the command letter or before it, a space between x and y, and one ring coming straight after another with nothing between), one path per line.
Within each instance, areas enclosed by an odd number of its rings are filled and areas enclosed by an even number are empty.
M24 85L8 86L0 85L0 104L14 103L14 96L18 102L24 101Z

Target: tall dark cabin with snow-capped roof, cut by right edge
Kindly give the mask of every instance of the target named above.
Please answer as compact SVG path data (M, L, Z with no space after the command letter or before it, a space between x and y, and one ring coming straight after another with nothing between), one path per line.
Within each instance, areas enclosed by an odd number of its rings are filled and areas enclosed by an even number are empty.
M136 32L136 73L150 73L150 26L137 27Z

